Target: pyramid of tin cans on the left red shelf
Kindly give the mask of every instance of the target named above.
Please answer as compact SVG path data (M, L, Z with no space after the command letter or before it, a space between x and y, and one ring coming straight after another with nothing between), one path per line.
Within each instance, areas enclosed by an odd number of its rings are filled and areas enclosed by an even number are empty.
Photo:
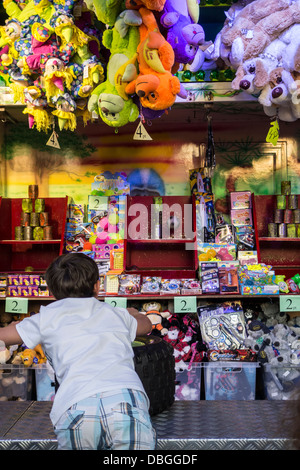
M22 199L20 225L15 227L16 240L52 240L45 200L38 197L38 186L29 185L28 198Z

